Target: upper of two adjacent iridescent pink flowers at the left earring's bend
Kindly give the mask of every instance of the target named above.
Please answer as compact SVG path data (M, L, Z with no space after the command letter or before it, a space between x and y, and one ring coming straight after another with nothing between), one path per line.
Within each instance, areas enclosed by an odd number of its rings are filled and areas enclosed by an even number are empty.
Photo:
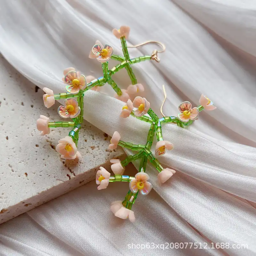
M76 94L80 90L84 90L87 85L86 78L80 72L76 72L75 68L66 68L63 72L64 78L62 80L68 84L66 90L69 93Z

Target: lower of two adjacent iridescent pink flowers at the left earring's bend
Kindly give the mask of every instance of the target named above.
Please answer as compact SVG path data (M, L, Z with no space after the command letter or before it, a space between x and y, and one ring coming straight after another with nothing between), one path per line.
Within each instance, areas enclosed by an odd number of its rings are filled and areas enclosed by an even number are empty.
M62 118L75 118L80 114L80 107L78 106L78 102L73 99L69 98L64 101L65 106L60 106L58 108L58 113Z

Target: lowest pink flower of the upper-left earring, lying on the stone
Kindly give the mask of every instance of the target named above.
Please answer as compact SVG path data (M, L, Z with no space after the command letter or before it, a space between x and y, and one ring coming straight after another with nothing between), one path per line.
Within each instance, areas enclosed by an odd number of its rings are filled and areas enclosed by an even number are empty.
M76 149L76 144L69 136L59 140L56 150L61 154L60 157L64 159L75 159L76 157L81 157L81 154Z

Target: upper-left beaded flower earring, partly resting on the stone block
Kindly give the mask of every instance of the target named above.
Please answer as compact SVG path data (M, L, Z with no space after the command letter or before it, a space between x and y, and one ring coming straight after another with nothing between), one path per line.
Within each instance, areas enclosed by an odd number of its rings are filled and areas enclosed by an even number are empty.
M83 122L85 92L87 92L89 89L99 91L101 86L108 83L116 92L115 97L126 102L130 98L129 94L144 91L143 85L137 83L137 79L132 71L131 65L146 60L156 60L159 62L157 54L164 52L165 46L159 42L148 41L146 43L160 44L163 50L155 50L151 55L130 59L126 44L126 39L129 37L129 33L130 28L127 26L121 26L118 30L116 28L113 29L113 34L116 36L116 38L121 40L124 57L114 55L113 48L109 44L105 44L103 46L99 41L96 41L96 44L92 47L89 58L97 59L99 62L101 62L103 76L96 79L93 76L85 77L80 72L77 72L75 68L67 68L64 70L64 77L62 78L63 82L68 84L66 86L67 93L54 94L51 89L47 87L43 88L45 92L43 96L45 107L50 108L53 106L55 100L66 99L64 101L64 106L60 106L58 108L58 113L62 118L72 119L72 122L50 122L48 117L41 115L36 122L37 129L41 131L41 135L49 134L50 128L72 127L72 130L68 133L68 136L59 140L59 144L56 146L56 150L61 154L61 158L75 159L76 157L81 157L80 153L77 151L77 143L79 129L81 128L81 123ZM110 58L120 61L121 63L109 70L108 60ZM127 90L121 90L112 78L112 76L122 68L127 70L132 82L132 84L128 86Z

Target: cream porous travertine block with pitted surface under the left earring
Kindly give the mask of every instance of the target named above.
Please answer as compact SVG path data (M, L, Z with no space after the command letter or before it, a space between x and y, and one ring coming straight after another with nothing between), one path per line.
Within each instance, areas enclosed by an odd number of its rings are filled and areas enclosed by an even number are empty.
M0 56L0 223L93 180L100 165L109 168L110 159L125 157L122 148L106 150L110 137L84 121L78 142L82 159L60 159L55 147L71 127L40 136L39 115L61 121L60 104L45 108L43 94Z

